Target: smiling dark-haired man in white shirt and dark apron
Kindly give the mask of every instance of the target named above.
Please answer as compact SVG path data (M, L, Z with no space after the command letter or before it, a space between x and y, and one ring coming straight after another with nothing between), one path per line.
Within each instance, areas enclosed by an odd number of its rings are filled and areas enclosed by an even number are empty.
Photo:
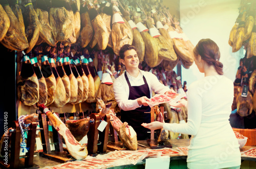
M159 82L157 77L138 68L139 58L135 46L125 44L119 51L119 56L126 71L114 82L114 94L121 109L121 121L127 122L137 133L137 139L150 138L149 129L141 126L150 123L151 108L147 101L152 97L152 91L157 94L175 94L173 90Z

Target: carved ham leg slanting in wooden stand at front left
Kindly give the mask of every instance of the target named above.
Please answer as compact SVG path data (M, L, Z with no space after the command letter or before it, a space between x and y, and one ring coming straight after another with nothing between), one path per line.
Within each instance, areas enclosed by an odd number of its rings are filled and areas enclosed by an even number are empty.
M77 160L81 160L87 157L88 151L86 145L80 145L75 137L71 134L69 128L57 117L55 113L52 113L44 104L37 104L37 107L44 112L49 118L52 126L58 131L60 135L65 139L66 147L72 157Z

